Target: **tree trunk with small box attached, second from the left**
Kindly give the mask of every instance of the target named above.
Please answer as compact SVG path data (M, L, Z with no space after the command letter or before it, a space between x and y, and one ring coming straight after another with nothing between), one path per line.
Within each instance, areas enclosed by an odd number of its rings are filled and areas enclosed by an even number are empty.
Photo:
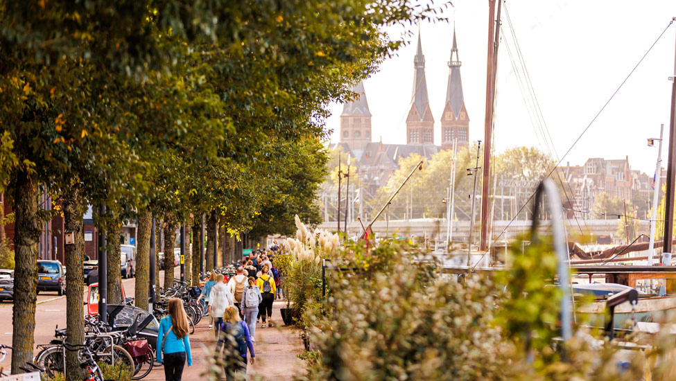
M67 188L62 194L64 231L72 231L75 243L64 245L66 262L66 336L71 344L85 343L85 314L83 309L83 208L80 190L76 186ZM80 360L78 353L66 351L66 375L69 381L80 381Z

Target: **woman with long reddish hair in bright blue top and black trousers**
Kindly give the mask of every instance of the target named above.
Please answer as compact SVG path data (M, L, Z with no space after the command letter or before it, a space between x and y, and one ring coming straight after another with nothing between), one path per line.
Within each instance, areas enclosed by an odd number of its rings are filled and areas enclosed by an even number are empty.
M169 314L162 318L157 330L157 362L164 363L166 381L181 381L186 361L188 366L193 365L188 338L188 317L181 299L170 299L167 309Z

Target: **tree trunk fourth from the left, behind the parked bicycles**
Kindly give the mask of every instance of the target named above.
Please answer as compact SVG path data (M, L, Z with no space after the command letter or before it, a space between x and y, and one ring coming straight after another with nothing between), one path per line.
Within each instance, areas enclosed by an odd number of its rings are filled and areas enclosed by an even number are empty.
M146 209L139 215L138 249L136 252L136 283L134 303L138 308L148 310L148 278L150 277L150 228L153 215Z

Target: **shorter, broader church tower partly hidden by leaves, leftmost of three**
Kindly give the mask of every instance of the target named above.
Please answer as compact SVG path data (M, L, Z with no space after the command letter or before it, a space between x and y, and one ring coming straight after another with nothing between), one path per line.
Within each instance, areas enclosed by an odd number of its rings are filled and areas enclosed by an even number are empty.
M363 150L371 142L371 112L364 82L359 81L352 91L357 95L345 103L340 114L340 143L347 143L351 150Z

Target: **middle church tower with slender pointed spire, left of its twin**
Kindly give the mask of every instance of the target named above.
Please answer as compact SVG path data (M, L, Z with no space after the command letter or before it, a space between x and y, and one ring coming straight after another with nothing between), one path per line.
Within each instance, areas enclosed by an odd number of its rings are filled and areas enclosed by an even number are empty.
M427 96L425 80L425 56L422 55L422 44L418 32L418 47L413 59L413 105L406 118L407 144L434 144L434 118Z

